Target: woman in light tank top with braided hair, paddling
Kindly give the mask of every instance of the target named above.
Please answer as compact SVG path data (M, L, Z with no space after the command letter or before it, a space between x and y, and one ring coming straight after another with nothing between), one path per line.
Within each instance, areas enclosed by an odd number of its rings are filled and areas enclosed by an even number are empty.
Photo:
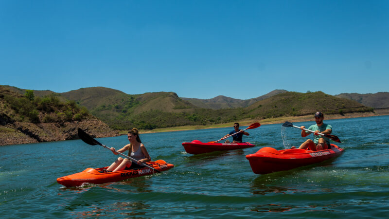
M117 152L123 153L124 151L128 150L128 156L134 158L135 160L138 160L138 163L130 161L127 158L123 159L119 157L107 169L104 169L104 172L116 172L120 170L143 168L144 166L141 165L141 163L151 161L150 155L147 152L146 147L142 144L141 139L139 138L138 129L133 128L129 130L127 137L130 144L125 145L123 148L117 150ZM115 148L111 147L110 149L112 153L118 154Z

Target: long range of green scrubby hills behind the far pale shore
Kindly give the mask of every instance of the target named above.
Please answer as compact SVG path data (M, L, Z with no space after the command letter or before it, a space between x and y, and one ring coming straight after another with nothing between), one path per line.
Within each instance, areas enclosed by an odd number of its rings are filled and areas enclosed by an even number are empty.
M372 111L355 101L337 98L323 92L288 92L267 95L248 107L204 109L185 101L174 92L125 94L108 88L83 88L62 93L85 106L96 117L114 129L167 128L186 125L210 125L238 120L261 120L280 116ZM261 99L261 98L259 98Z

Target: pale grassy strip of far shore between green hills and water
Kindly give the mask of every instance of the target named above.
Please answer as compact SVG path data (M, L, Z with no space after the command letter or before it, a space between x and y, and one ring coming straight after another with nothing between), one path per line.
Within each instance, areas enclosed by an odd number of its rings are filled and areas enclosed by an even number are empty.
M359 118L359 117L371 117L371 116L383 116L389 115L389 109L376 109L374 112L354 112L354 113L345 113L341 114L329 114L324 115L324 120L333 120L333 119L350 119L350 118ZM259 122L261 125L269 124L282 124L285 121L289 122L309 122L314 121L313 115L306 116L289 116L289 117L277 117L277 118L268 118L263 120L244 120L237 121L241 127L249 126L252 123ZM227 128L232 127L234 122L224 123L224 124L215 124L210 126L181 126L181 127L171 127L171 128L155 128L152 130L139 130L140 134L149 134L149 133L159 133L159 132L171 132L171 131L187 131L187 130L196 130L196 129L207 129L207 128ZM121 135L126 135L127 131L119 131Z

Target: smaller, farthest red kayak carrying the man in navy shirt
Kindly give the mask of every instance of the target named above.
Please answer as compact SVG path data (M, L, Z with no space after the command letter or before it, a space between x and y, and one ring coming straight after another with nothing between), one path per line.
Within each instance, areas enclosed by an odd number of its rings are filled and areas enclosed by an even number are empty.
M184 146L185 151L189 154L203 154L203 153L209 153L209 152L220 151L220 150L234 150L240 148L253 147L255 145L252 145L248 142L246 143L206 143L206 142L200 142L198 140L194 140L192 142L184 142L182 143L182 146Z

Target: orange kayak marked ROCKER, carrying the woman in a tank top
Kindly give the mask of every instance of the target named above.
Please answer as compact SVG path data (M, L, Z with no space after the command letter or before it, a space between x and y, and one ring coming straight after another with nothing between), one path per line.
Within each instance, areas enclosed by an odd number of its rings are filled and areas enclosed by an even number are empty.
M174 167L173 164L168 164L163 160L158 160L155 162L147 162L147 164L159 171L165 171ZM65 185L66 187L75 187L75 186L80 186L83 183L101 184L101 183L117 182L128 178L141 177L141 176L151 175L154 173L154 171L148 167L102 173L102 170L104 168L108 168L108 167L106 166L97 169L86 168L82 172L71 174L69 176L59 177L57 179L57 182L59 184Z

